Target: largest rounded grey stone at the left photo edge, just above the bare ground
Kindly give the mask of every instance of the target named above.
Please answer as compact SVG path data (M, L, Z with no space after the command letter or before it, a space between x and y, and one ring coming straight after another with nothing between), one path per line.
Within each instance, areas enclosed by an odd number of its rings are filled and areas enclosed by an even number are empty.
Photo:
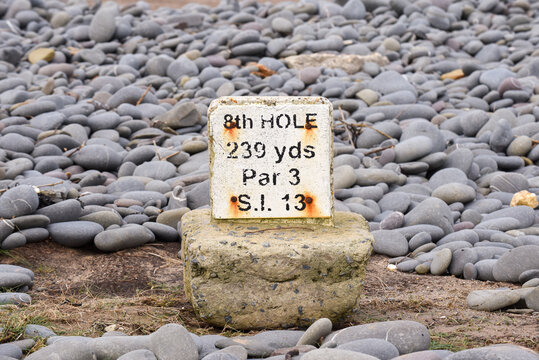
M37 210L39 197L30 185L19 185L0 196L0 217L30 215Z

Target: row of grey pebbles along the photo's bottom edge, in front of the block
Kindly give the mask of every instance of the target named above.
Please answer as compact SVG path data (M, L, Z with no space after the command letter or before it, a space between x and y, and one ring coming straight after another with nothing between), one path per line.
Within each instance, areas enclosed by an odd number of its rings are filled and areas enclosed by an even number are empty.
M459 352L429 350L427 328L415 321L386 321L332 331L329 319L315 321L306 331L272 330L227 338L188 332L167 324L150 335L127 336L110 331L99 338L57 336L39 325L28 325L24 336L45 339L47 346L27 360L465 360L506 356L537 360L532 351L515 345L494 345ZM20 359L28 340L0 345L0 356ZM508 356L508 357L507 357ZM498 357L496 357L498 358Z

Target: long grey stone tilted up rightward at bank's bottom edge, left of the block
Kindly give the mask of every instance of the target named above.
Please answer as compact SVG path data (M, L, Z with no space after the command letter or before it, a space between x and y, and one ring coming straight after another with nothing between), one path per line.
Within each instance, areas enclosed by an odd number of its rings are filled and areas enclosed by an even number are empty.
M118 251L140 246L155 240L154 234L142 225L124 225L121 228L102 231L94 238L101 251Z

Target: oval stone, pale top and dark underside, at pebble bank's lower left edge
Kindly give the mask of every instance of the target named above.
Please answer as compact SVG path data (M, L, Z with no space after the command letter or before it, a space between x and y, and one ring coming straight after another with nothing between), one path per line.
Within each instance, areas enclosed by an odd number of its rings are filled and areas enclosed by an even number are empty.
M47 227L53 241L68 247L90 244L104 230L103 226L91 221L66 221Z

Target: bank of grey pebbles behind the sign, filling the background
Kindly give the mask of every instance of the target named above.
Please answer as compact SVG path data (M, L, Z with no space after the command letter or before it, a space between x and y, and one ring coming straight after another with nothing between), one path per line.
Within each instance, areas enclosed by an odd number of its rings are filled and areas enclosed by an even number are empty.
M370 222L375 250L401 271L526 283L517 302L537 310L539 3L99 4L0 3L2 249L178 241L209 205L209 103L322 95L335 208Z

